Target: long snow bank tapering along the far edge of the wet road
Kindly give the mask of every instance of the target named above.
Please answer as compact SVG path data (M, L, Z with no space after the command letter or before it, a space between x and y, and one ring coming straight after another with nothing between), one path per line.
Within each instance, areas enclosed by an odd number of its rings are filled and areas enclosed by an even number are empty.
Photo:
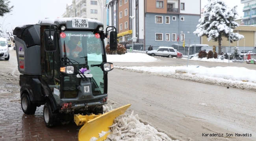
M163 67L121 67L123 69L135 72L148 72L156 75L177 78L182 80L196 81L238 89L247 89L256 91L256 70L250 70L244 67L203 67L188 65L186 66L163 66Z

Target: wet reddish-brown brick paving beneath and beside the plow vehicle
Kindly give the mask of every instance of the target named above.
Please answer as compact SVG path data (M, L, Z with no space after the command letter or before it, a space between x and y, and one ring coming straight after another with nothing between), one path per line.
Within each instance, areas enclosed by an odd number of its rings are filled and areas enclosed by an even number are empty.
M78 141L82 126L69 123L47 128L43 105L35 114L24 114L20 100L0 98L0 141Z

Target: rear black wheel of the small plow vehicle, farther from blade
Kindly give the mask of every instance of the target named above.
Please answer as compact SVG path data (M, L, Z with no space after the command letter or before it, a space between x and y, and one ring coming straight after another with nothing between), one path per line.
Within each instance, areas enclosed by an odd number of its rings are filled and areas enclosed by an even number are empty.
M36 105L30 101L27 93L21 96L21 108L25 114L34 114L37 109Z

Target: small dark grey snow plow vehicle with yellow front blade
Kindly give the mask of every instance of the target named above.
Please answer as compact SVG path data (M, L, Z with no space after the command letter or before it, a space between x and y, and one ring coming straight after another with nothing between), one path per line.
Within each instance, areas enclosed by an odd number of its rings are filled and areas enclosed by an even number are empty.
M20 72L21 107L34 114L44 105L46 127L73 122L83 125L78 139L89 140L108 131L113 119L130 105L103 114L108 103L108 72L104 38L117 50L117 31L86 18L44 19L41 24L13 31ZM106 139L99 137L99 140Z

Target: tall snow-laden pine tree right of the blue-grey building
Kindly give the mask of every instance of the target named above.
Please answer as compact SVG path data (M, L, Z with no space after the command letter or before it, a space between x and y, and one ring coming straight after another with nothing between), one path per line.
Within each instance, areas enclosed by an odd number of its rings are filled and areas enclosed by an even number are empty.
M230 42L241 40L243 35L233 33L233 29L239 26L235 19L237 18L237 6L229 8L223 0L208 0L205 5L204 17L199 19L196 31L194 34L200 36L207 36L208 41L213 40L219 42L218 54L221 54L221 40L222 37L229 38L229 24L230 26Z

